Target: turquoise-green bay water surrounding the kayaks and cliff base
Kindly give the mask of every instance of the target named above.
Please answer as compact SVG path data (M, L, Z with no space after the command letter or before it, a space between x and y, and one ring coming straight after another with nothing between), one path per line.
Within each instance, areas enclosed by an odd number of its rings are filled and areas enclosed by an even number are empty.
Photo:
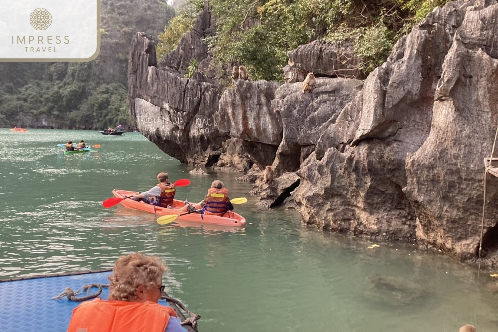
M95 152L64 155L84 139ZM153 215L104 209L114 188L145 191L161 171L188 178L177 198L200 201L214 179L245 227L158 225ZM200 332L496 331L494 271L414 246L323 233L285 209L263 210L240 173L195 176L140 133L0 128L0 279L112 267L124 253L163 258L166 292L202 316Z

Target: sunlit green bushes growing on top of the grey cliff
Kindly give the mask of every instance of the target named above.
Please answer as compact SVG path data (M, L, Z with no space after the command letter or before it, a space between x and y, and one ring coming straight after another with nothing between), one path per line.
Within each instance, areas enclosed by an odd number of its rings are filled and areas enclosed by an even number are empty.
M254 80L283 80L287 52L315 39L354 38L366 73L385 61L395 41L448 0L210 0L216 35L208 38L222 63L241 62ZM188 6L159 36L159 57L193 24L202 0Z

